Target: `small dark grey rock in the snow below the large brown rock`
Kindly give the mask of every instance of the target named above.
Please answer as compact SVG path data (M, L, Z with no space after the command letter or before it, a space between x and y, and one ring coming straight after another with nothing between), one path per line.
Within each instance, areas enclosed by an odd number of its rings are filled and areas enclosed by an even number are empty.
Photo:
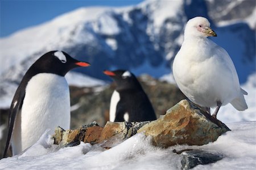
M189 150L182 152L181 169L191 169L196 165L205 165L215 163L221 160L224 156L221 154L212 154L203 150Z

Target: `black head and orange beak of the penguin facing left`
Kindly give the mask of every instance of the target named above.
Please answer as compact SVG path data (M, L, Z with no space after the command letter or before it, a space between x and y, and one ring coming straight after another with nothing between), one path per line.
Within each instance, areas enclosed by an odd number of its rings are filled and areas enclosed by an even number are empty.
M138 89L141 90L141 84L134 76L133 73L125 70L116 70L116 71L104 71L104 74L112 78L117 84L117 91L128 90L128 89Z

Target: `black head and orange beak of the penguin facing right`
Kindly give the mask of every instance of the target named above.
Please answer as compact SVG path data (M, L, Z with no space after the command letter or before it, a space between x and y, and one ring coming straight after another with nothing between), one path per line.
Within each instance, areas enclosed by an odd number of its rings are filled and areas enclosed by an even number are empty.
M54 73L60 76L76 67L88 67L89 63L73 59L64 51L50 51L40 57L32 68L42 73Z

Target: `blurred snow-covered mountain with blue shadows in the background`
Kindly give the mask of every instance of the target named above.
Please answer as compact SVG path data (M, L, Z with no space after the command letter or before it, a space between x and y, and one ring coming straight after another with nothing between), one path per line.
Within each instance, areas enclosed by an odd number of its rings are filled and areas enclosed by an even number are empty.
M245 83L255 73L255 11L250 0L145 1L125 8L77 9L0 39L0 95L16 87L39 56L56 49L92 64L75 70L88 76L105 79L104 69L122 68L162 77L171 72L185 23L199 15L210 19L218 35L212 40L229 52Z

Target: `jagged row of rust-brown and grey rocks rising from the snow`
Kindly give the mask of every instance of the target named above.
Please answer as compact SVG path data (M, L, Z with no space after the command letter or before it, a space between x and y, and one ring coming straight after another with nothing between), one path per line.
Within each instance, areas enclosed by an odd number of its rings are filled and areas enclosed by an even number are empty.
M130 138L137 132L152 136L152 143L159 147L176 144L203 145L217 140L218 136L230 129L222 122L210 117L199 106L182 100L167 110L156 121L147 122L107 122L102 128L96 122L75 130L56 128L55 144L74 146L82 142L103 143L111 138L120 141Z

